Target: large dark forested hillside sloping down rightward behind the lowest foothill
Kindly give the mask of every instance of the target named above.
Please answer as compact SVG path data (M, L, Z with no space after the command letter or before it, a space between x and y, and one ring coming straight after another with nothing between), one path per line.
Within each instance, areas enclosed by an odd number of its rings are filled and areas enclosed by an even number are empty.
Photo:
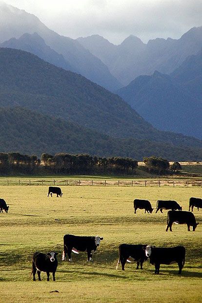
M0 107L25 107L112 137L202 148L202 141L159 131L118 95L17 49L0 48Z

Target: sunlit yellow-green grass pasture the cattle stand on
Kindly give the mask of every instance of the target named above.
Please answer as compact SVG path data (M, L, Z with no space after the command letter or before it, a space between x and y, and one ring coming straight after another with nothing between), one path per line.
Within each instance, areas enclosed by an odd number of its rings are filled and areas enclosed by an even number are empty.
M47 197L46 186L0 186L0 197L9 204L0 214L0 302L190 302L202 301L202 209L194 209L195 232L174 225L165 232L166 214L133 214L134 198L148 199L156 208L158 199L173 199L188 210L191 196L201 188L68 187L62 198ZM104 237L88 263L86 253L62 262L63 235ZM137 271L135 263L116 270L121 243L156 246L184 245L186 261L182 275L178 266L162 265L154 274L149 261ZM35 251L59 253L56 281L32 281L31 259ZM59 293L51 292L58 290Z

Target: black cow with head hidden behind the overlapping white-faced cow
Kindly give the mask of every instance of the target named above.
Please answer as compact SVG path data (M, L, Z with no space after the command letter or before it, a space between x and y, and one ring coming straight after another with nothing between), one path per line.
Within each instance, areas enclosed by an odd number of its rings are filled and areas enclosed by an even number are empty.
M145 250L146 246L147 244L121 244L119 246L119 260L116 269L118 269L119 263L121 261L122 270L124 270L126 261L131 262L130 260L128 260L129 258L132 258L134 261L137 261L136 269L139 269L140 264L142 269L143 262L147 260L147 257L145 256L145 253L143 251L143 249Z

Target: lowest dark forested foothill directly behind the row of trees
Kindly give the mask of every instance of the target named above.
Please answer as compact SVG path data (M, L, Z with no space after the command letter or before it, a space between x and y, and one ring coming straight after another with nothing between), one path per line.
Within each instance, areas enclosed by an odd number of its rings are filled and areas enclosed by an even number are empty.
M142 155L155 153L175 161L202 159L202 149L176 147L147 140L115 139L27 108L0 108L0 121L1 152L18 151L38 156L43 152L89 153L138 160L142 160Z

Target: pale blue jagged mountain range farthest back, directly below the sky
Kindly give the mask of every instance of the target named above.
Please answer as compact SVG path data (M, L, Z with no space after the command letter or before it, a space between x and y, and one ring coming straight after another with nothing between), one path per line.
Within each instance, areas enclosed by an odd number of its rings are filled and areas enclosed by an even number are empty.
M202 26L191 28L180 39L157 38L147 44L133 35L120 45L113 45L95 35L78 41L100 58L123 85L128 85L136 77L151 75L155 70L169 74L187 56L196 55L202 48Z

